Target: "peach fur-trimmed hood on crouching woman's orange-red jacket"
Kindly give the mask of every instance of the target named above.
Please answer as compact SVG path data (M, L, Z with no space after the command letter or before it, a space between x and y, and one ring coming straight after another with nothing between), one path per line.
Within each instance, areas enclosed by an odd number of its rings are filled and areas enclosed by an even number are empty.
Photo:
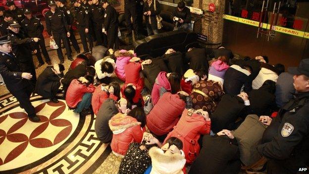
M122 113L118 113L113 116L109 121L108 125L113 134L119 134L124 132L127 128L141 125L142 123L137 121L132 116L126 116Z

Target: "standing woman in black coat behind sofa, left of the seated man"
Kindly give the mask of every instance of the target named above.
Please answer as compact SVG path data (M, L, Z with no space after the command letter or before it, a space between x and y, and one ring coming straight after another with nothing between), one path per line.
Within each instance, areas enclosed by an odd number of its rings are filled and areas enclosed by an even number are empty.
M156 15L160 14L159 2L155 0L156 10L154 11L154 0L147 0L144 3L143 14L146 17L148 36L158 34Z

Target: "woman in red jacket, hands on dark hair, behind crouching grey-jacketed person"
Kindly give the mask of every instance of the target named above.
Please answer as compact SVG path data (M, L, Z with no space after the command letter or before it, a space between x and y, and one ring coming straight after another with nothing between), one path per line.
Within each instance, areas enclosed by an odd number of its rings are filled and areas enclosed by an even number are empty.
M101 84L96 87L91 99L91 105L95 115L97 115L101 105L108 98L111 98L114 101L118 101L120 99L119 83L112 82L107 86L105 86L105 84Z

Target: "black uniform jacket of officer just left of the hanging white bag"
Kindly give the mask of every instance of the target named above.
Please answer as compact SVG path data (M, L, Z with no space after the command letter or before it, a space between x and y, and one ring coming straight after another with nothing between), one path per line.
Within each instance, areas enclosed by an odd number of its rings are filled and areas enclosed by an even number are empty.
M41 38L43 36L44 26L39 18L31 17L31 19L25 18L21 21L26 33L32 38Z

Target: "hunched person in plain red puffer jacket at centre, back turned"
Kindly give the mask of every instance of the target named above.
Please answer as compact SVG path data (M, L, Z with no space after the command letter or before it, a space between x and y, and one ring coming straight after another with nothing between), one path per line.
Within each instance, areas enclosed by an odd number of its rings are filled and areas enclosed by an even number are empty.
M186 107L185 98L180 93L164 93L147 116L148 129L158 136L169 133Z

